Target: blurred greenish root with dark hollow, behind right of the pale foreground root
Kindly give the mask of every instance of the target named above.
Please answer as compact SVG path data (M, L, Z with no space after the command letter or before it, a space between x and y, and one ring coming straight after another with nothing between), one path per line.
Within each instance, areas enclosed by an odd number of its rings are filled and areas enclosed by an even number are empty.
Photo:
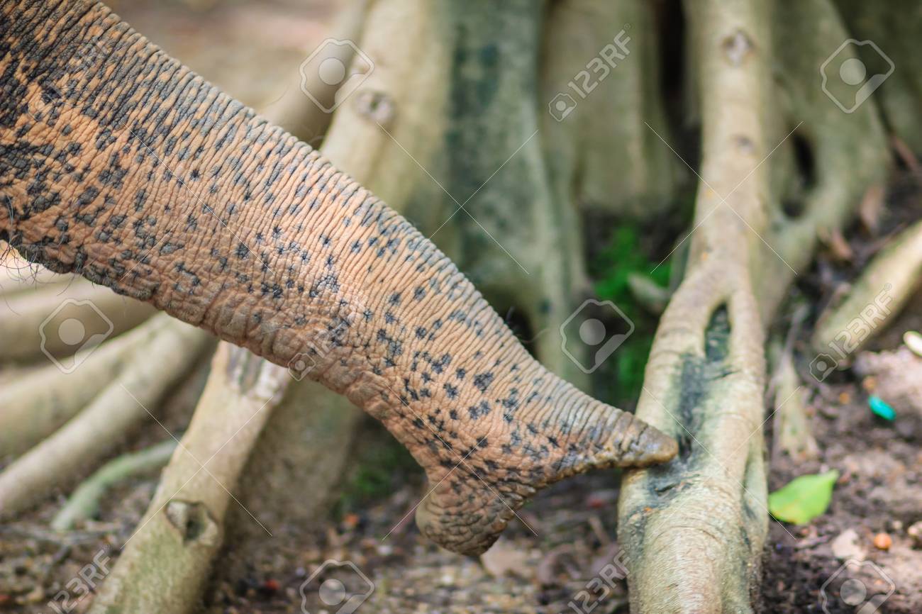
M810 266L818 238L842 231L865 195L881 190L890 159L876 98L845 113L816 84L817 67L849 38L832 2L779 0L772 38L776 112L766 119L773 143L789 136L769 164L781 207L768 211L766 246L753 263L761 271L756 296L766 323L794 277ZM855 57L852 49L844 53Z

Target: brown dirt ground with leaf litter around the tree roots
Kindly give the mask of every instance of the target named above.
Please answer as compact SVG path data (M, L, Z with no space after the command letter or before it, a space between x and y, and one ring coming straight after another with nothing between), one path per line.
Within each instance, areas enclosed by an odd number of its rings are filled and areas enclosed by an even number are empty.
M308 11L294 2L268 3L258 10L238 3L222 5L220 10L193 10L191 1L115 6L168 52L259 108L278 97L279 84L287 82L305 53L322 39L336 4L320 3ZM911 209L917 218L919 195L918 178L904 177L892 187L888 204ZM900 223L896 217L887 221L891 227ZM854 263L824 261L798 279L798 291L822 304L841 281L855 274L869 244L857 237ZM906 329L922 330L922 295L874 348L896 347ZM802 339L798 348L805 345ZM863 587L865 600L886 596L879 611L918 614L922 612L922 543L914 544L908 530L922 521L922 419L876 418L855 376L836 372L817 383L806 369L811 358L799 354L798 369L821 455L802 464L785 456L772 458L770 489L829 468L838 469L841 477L829 512L810 525L770 521L762 596L757 601L765 612L822 612L823 591L828 614L855 612L857 608L843 599L858 603L852 597ZM202 376L193 376L173 399L167 418L171 431L182 431ZM765 425L768 433L772 426L770 419ZM366 429L365 437L386 436L373 426ZM161 437L160 427L151 423L126 447L136 449ZM355 456L353 475L361 471L362 451ZM208 587L202 611L280 613L299 611L302 605L305 611L335 612L339 606L329 604L336 603L337 584L330 580L354 591L366 581L373 584L360 611L582 612L593 604L597 613L627 611L614 525L616 472L573 478L542 492L520 513L524 523L515 520L479 561L437 549L420 537L412 515L426 491L420 472L403 460L385 464L384 469L384 488L376 494L340 503L329 519L316 525L281 527L277 537L267 537L258 560L244 561L248 573ZM104 575L118 548L136 530L155 487L154 476L121 485L103 502L98 521L63 535L53 533L47 523L66 493L15 522L0 525L0 611L53 612L49 601L89 563L96 561L94 569ZM344 486L344 490L348 489ZM840 572L845 561L833 555L833 541L848 530L857 536L854 556L864 558L865 564ZM889 549L873 545L879 533L892 539ZM239 555L232 544L222 555L235 556ZM318 573L330 559L351 561L355 569L326 568ZM613 587L606 587L602 599L597 598L602 584L593 581L600 573L613 579ZM843 584L848 578L852 581ZM89 583L90 588L96 584ZM68 602L73 608L63 611L88 608L91 599L80 596L79 592L73 596Z

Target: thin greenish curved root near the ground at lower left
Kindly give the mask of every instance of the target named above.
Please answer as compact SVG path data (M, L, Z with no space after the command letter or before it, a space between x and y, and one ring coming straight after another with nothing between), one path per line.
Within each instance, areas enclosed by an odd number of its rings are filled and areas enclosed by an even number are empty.
M100 499L114 484L138 474L160 469L167 464L176 442L168 439L140 452L121 455L101 466L96 473L85 479L67 499L61 510L54 514L51 526L55 531L67 531L91 518L100 508Z

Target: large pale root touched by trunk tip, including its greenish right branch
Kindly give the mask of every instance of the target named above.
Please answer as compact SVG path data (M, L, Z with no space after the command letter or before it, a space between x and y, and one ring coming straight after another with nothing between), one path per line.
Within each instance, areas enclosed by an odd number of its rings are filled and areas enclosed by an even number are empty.
M817 234L841 228L882 180L886 150L872 100L846 115L812 86L815 57L845 38L831 5L688 3L686 14L703 122L697 230L637 410L680 440L680 456L626 475L620 534L632 610L738 614L752 611L767 528L764 325ZM798 45L792 23L810 24ZM773 53L784 71L769 100Z

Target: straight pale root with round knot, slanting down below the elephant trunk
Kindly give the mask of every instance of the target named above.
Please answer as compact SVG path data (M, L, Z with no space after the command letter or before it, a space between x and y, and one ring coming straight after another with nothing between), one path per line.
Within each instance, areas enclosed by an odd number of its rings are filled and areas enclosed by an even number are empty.
M223 541L231 490L289 382L286 369L219 346L189 430L91 613L195 608Z

